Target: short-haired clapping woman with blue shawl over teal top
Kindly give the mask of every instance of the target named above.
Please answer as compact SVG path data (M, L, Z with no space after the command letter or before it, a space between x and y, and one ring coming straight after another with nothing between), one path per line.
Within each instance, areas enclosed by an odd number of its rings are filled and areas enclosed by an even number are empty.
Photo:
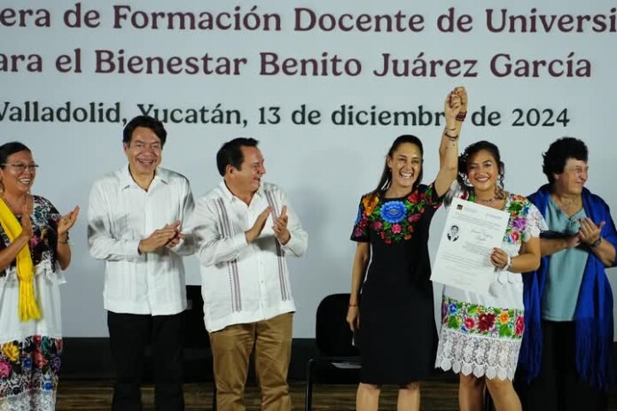
M585 143L551 143L549 183L529 196L549 226L540 268L525 275L525 336L518 391L525 410L601 410L613 382L613 293L617 232L602 198L584 188Z

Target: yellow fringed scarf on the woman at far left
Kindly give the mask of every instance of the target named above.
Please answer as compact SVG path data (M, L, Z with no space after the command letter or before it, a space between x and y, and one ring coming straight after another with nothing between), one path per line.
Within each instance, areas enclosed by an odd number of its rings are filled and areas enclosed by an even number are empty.
M4 199L0 199L0 224L11 242L20 236L20 221L17 221ZM35 299L35 267L27 245L17 253L17 278L20 280L20 320L38 320L41 313Z

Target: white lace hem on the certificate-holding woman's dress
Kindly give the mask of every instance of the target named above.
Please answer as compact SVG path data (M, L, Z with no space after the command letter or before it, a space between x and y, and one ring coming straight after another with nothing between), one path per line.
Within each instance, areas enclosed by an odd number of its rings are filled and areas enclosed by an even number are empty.
M470 336L442 327L435 367L465 376L512 380L519 349L520 340Z

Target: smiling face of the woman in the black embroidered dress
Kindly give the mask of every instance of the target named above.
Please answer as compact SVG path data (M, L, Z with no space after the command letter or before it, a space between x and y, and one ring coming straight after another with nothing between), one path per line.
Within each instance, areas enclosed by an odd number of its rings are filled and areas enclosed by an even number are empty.
M391 188L410 191L422 171L422 151L416 144L401 143L387 157L387 167L392 171Z

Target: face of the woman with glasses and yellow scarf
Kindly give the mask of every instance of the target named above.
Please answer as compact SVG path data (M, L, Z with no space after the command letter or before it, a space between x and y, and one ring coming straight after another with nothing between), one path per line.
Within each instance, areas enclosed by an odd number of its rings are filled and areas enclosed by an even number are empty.
M18 151L6 158L6 164L0 168L0 178L4 184L4 193L21 196L27 193L35 183L35 159L32 152Z

